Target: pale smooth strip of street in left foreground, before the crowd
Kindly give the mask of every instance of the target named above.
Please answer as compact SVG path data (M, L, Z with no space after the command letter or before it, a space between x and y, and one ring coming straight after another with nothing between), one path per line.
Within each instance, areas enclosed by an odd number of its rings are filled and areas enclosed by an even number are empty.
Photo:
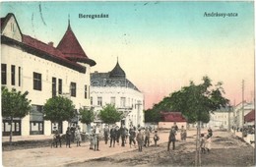
M160 133L159 143L166 142L168 140L168 133ZM178 134L179 135L179 134ZM151 134L153 138L154 134ZM179 138L179 137L178 137ZM127 139L128 141L129 139ZM153 139L151 139L153 141ZM153 144L153 142L151 142ZM82 146L77 147L75 143L71 145L71 148L66 147L65 143L62 147L51 148L41 147L23 150L13 150L2 152L3 166L64 166L75 162L84 162L90 159L96 159L109 155L114 155L121 152L131 151L137 149L134 146L130 148L129 144L125 147L121 145L115 145L115 147L109 147L103 140L99 141L99 151L89 149L89 142L83 142Z

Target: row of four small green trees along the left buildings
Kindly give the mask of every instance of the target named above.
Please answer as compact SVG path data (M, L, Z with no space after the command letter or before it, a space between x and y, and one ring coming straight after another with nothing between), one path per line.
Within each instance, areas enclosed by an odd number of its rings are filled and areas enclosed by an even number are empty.
M22 93L15 88L9 90L6 86L2 86L2 116L10 121L10 144L12 144L13 136L13 119L23 118L32 110L32 101L28 99L28 94L28 91ZM78 113L75 111L75 105L72 100L63 96L54 96L47 99L43 105L42 112L44 120L59 123L58 125L63 121L71 123L71 120L75 117L79 117L79 120L87 125L96 119L95 112L92 108L80 108ZM114 124L123 118L122 113L118 112L111 104L104 106L100 110L98 117L106 124Z

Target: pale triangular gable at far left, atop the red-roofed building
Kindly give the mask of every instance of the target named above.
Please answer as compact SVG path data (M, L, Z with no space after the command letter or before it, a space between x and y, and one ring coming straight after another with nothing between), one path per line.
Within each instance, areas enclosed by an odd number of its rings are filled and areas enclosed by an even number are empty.
M1 35L22 42L23 35L13 14L8 14L6 18L1 19Z

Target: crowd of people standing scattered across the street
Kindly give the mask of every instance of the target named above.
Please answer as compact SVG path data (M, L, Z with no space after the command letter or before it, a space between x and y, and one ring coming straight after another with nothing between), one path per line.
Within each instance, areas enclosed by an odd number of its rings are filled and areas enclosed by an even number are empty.
M176 134L178 131L178 127L176 123L171 127L170 132L169 132L169 137L168 137L168 143L167 143L167 150L169 151L170 144L172 143L172 149L175 149L175 141L176 141ZM100 135L100 128L99 125L96 125L92 127L91 133L90 133L90 149L93 150L99 150L99 135ZM208 134L205 136L205 134L201 134L200 138L200 148L202 152L210 151L211 149L211 138L213 136L213 131L211 128L208 129ZM103 128L103 137L104 137L104 143L108 143L108 139L110 139L110 144L109 147L114 147L115 143L117 142L117 145L119 145L119 139L121 138L121 146L125 146L127 144L127 139L129 139L129 145L130 147L137 146L139 151L142 151L143 146L149 147L150 146L150 139L151 139L151 131L149 127L140 128L134 126L130 126L130 129L128 130L127 128L124 127L124 125L121 125L119 128L116 125L113 126L108 126L105 125ZM183 126L181 126L180 129L180 139L181 141L186 140L187 133L186 130L184 129ZM58 132L58 130L55 130L54 132L54 145L56 144L57 147L57 142L60 143L61 147L61 137ZM74 140L72 140L74 139ZM160 140L160 137L158 135L158 131L155 131L154 134L154 142L155 146L158 146L158 140ZM81 133L80 133L80 127L68 127L66 131L66 147L71 147L70 143L71 141L76 141L77 146L81 146ZM137 144L136 144L137 143Z

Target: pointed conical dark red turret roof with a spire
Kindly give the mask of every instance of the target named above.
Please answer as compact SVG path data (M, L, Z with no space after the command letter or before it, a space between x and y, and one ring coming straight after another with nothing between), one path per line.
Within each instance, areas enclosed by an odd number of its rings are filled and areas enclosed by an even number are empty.
M70 25L60 40L57 49L59 49L67 58L88 59Z

